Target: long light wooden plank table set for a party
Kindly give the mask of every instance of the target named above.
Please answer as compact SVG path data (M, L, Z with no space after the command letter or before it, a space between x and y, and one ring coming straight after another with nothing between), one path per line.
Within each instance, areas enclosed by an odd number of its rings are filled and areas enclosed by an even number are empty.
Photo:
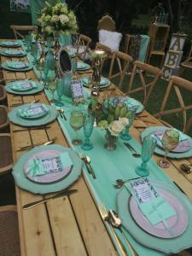
M26 57L21 59L26 60ZM10 61L11 58L2 56L1 60L2 62ZM17 58L13 58L13 60L17 60ZM17 79L37 79L33 71L14 73L3 70L3 76L6 83ZM9 110L13 108L12 105L15 103L22 104L34 100L49 104L44 91L36 96L8 94ZM140 142L140 133L145 127L151 125L161 125L161 123L149 113L143 111L134 121L131 127L131 135ZM57 136L55 143L68 147L67 139L62 133L57 120L49 126L48 129L30 130L30 128L10 123L14 160L18 160L21 154L25 154L25 151L20 151L20 147L45 143L55 135ZM154 160L158 159L160 159L160 156L154 154ZM192 163L192 158L188 160L170 160L170 162L171 166L165 169L165 172L192 200L192 173L181 172L179 167L182 163ZM22 255L106 256L117 254L84 175L71 188L78 189L78 193L23 210L23 205L40 200L44 196L33 195L16 187Z

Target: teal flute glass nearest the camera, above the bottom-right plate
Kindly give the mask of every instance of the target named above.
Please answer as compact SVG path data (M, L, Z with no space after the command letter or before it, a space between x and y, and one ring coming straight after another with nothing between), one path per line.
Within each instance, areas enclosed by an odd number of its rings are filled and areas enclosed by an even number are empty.
M148 161L151 159L152 154L154 154L154 148L156 146L157 140L154 137L144 137L142 145L142 160L143 163L141 166L138 166L136 172L139 176L144 177L148 176L149 171L147 167Z

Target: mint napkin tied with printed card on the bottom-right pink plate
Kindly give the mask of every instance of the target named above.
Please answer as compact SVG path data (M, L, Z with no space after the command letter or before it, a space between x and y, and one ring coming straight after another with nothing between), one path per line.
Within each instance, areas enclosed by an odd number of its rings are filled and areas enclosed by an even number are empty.
M165 222L167 218L177 215L174 208L159 195L148 177L125 183L125 188L137 201L139 209L148 218L150 224Z

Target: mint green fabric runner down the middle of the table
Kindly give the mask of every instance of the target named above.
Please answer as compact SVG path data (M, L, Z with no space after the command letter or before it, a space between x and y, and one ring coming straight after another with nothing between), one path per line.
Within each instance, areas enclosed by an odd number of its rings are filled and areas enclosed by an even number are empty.
M48 98L50 98L49 91L45 91ZM63 102L65 103L63 109L65 110L65 116L67 117L67 121L58 117L58 121L61 125L61 129L64 131L64 134L67 137L67 141L70 144L71 148L73 148L77 153L88 154L91 158L91 166L94 168L94 172L96 173L96 179L93 179L90 174L87 173L85 166L83 167L84 177L87 182L90 184L90 188L92 193L97 201L97 203L104 203L105 206L110 209L114 209L117 211L116 205L116 196L119 192L119 189L113 188L113 183L117 178L131 178L138 177L135 170L137 166L141 165L141 159L135 159L131 156L130 151L125 147L124 141L120 138L118 139L117 149L114 151L108 151L104 148L105 143L105 133L106 131L102 131L96 127L94 127L94 131L90 137L91 143L93 143L94 148L90 151L84 151L80 146L74 146L72 144L72 139L75 137L75 132L69 124L70 112L74 108L79 108L78 106L73 106L70 102L67 101L67 98L63 97ZM81 104L81 110L86 112L87 105ZM83 129L79 131L79 137L84 140ZM135 139L131 139L131 145L137 149L138 152L141 152L141 146L137 143ZM119 164L120 163L120 164ZM172 181L166 177L166 174L160 169L159 166L154 162L154 160L150 160L148 163L148 167L150 169L149 177L152 179L166 181L166 183L171 183ZM105 223L107 226L108 224ZM109 232L110 228L108 227ZM124 229L125 230L125 229ZM118 236L121 238L121 241L124 243L127 252L129 248L125 244L123 237L121 236L119 230L117 230ZM142 256L160 256L165 255L164 253L160 253L158 251L154 251L150 248L143 247L137 241L132 239L128 232L125 230L125 234L128 237L131 245L137 251L138 255ZM111 233L113 237L113 234ZM117 246L118 249L118 246ZM119 252L121 255L121 253Z

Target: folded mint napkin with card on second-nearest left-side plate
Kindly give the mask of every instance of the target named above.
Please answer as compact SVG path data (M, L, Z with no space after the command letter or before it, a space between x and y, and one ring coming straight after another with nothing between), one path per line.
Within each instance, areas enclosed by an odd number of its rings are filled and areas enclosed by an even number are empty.
M17 112L23 118L30 118L30 117L41 117L45 113L47 113L49 109L41 104L41 105L30 105L27 108L19 108Z

